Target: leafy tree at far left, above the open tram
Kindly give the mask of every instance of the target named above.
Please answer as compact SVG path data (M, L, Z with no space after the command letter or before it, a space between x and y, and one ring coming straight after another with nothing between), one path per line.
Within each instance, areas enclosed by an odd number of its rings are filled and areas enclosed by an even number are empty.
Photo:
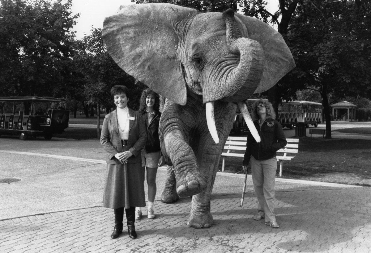
M72 0L1 0L0 83L6 96L60 96L73 56Z

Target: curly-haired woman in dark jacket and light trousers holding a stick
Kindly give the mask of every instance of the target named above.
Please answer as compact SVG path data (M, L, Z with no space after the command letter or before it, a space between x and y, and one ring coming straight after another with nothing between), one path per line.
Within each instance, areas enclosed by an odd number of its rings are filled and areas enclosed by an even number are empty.
M252 119L259 132L260 143L249 133L246 152L243 159L243 170L250 163L258 213L254 220L265 219L265 224L274 228L276 222L274 197L277 170L276 151L285 147L286 137L281 124L275 120L276 114L268 100L257 100L253 104Z

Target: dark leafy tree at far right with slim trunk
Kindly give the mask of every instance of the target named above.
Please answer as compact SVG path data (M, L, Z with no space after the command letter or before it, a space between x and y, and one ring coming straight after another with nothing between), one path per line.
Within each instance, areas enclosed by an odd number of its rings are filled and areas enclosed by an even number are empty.
M292 17L288 33L288 44L297 65L292 80L321 94L326 138L331 138L328 95L370 96L371 3L366 0L304 2Z

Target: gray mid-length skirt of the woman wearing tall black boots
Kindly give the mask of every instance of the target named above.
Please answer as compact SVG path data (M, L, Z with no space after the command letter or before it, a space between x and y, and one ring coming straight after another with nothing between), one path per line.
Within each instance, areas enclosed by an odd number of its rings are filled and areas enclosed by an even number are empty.
M107 164L103 206L144 207L144 168L141 163Z

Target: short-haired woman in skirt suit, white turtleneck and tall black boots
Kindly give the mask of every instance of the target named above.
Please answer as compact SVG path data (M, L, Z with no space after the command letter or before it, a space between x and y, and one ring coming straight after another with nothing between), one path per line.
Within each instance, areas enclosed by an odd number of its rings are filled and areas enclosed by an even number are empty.
M147 131L143 118L127 106L128 88L115 85L111 94L117 108L104 118L101 133L101 144L108 155L103 206L115 211L112 239L122 233L124 209L129 237L135 239L135 207L145 206L141 150Z

